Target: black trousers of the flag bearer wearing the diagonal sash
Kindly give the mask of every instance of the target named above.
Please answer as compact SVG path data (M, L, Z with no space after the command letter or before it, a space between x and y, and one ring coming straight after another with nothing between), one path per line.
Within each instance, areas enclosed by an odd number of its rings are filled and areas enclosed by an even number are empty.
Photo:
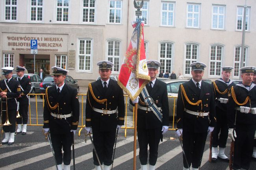
M161 138L162 128L143 129L137 128L139 141L139 160L141 165L147 165L148 145L149 145L149 164L156 165L158 157L158 145Z

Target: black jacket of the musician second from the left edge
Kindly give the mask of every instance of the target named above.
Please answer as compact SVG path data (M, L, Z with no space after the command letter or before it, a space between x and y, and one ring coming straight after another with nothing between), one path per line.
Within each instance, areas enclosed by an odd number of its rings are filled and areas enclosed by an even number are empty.
M18 77L17 77L18 79ZM21 97L17 98L17 101L20 102L20 104L28 104L28 96L27 94L30 92L31 90L31 81L28 77L22 77L22 79L20 80L20 86L21 88Z

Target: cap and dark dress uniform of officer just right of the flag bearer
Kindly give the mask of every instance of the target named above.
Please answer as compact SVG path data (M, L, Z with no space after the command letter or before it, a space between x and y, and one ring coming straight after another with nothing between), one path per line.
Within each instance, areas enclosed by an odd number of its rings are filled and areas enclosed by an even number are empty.
M190 67L192 71L204 71L206 65L202 62L193 62ZM183 148L189 164L187 165L183 155L184 170L188 170L191 164L192 170L198 170L207 134L213 130L216 124L215 115L215 101L211 84L202 79L196 82L192 78L180 85L177 99L178 130L176 134L182 134L183 137Z

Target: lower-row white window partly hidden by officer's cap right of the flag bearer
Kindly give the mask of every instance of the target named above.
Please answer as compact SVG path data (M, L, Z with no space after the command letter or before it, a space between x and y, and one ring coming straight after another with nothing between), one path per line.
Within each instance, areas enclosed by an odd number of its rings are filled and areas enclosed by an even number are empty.
M191 46L193 46L193 45L195 45L195 46L197 46L197 59L192 59L192 58L189 58L189 59L186 59L186 52L187 52L187 45L191 45ZM191 48L191 50L190 50L190 57L192 56L192 50L193 48ZM184 73L184 76L191 76L191 67L189 67L189 65L191 64L191 63L193 63L193 62L197 62L198 60L199 60L199 54L200 54L200 44L198 44L198 43L196 43L196 42L188 42L188 43L186 43L185 45L184 45L184 70L183 70L183 73ZM186 61L191 61L190 63L189 63L189 65L186 67ZM188 73L186 73L186 68L188 68Z

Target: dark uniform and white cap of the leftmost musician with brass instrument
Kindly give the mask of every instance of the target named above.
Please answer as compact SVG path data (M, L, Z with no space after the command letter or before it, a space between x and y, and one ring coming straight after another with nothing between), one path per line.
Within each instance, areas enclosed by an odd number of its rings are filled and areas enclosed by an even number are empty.
M11 125L4 125L3 130L5 132L5 138L2 140L2 144L11 145L14 143L14 132L16 127L16 112L17 112L17 100L20 95L19 81L12 79L13 67L2 68L2 75L6 77L4 80L0 80L1 91L1 112L2 112L2 124L5 124L6 117L9 119ZM6 95L3 95L6 93ZM6 96L6 97L5 97ZM6 108L7 106L7 108ZM6 113L8 114L6 115Z

